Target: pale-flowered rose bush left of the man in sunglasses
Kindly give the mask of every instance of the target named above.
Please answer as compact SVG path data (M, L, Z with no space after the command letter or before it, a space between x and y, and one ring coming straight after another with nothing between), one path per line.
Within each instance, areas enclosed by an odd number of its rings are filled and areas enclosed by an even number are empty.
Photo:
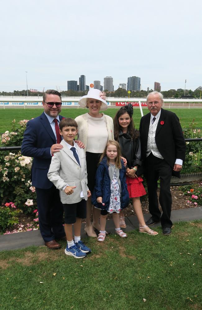
M12 121L12 131L2 134L3 146L20 146L28 120ZM35 188L31 186L32 158L20 152L4 152L0 155L0 197L1 203L14 201L25 214L36 209ZM30 202L28 202L30 201Z

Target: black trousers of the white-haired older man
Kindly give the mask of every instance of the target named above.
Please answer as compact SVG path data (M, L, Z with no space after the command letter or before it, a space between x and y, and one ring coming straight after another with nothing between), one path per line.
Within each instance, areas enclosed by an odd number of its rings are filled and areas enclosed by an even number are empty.
M152 153L145 160L146 181L148 187L149 213L155 222L161 220L162 227L172 227L170 220L172 196L170 192L170 180L172 168L161 158L155 157ZM159 202L162 208L162 215L158 208L158 179L160 178Z

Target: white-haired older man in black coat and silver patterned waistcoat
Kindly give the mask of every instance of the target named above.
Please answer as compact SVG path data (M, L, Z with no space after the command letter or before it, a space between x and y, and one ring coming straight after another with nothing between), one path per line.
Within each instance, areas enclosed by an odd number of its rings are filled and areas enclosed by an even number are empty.
M147 96L150 113L140 120L140 141L148 186L149 213L152 215L146 224L151 226L161 221L163 234L170 235L172 227L170 180L172 175L180 177L186 145L179 118L175 113L162 109L162 104L161 93L153 91ZM162 215L158 208L157 197L159 178Z

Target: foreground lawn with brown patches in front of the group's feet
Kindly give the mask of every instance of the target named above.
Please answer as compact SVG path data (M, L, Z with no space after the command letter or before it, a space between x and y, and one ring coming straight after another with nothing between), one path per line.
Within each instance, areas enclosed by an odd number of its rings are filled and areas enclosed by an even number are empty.
M0 252L0 308L202 309L201 227L181 222L170 236L158 227L156 237L135 230L104 243L87 238L92 253L78 260L64 254L65 242L60 250Z

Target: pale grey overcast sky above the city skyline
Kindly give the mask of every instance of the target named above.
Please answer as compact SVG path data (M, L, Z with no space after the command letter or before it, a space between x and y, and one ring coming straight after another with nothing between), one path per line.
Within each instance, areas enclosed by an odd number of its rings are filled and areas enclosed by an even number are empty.
M0 91L38 91L86 76L141 88L202 85L201 0L1 1Z

